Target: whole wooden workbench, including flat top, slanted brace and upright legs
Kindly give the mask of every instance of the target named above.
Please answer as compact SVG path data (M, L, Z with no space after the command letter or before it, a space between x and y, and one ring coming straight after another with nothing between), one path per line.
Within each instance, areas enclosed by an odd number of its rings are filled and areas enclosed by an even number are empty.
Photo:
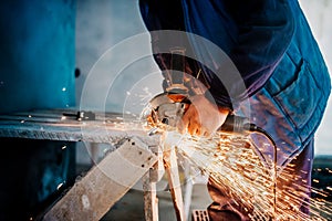
M82 113L86 115L81 118ZM116 147L76 181L43 220L100 220L139 179L144 180L145 218L158 220L156 182L164 164L158 156L159 137L148 136L135 117L72 108L21 112L0 115L0 137L84 141L93 144L92 147L112 144ZM174 152L168 159L175 164L172 167L177 166ZM173 185L179 182L177 177L169 179ZM185 220L180 189L173 188L172 183L177 218Z

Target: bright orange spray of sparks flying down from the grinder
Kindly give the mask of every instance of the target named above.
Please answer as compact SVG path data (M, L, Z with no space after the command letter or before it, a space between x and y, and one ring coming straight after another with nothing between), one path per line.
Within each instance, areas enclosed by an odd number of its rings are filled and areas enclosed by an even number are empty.
M164 131L164 143L174 148L189 162L209 176L225 193L232 198L251 220L329 220L332 214L331 203L322 198L326 192L315 190L321 198L308 199L308 185L284 185L277 187L273 164L267 165L259 157L252 140L245 135L216 134L211 138L180 135ZM167 151L167 149L164 151ZM293 179L295 165L290 165L278 177L283 183ZM281 168L278 168L281 170ZM276 189L274 189L276 188ZM310 209L310 215L300 210L301 206Z

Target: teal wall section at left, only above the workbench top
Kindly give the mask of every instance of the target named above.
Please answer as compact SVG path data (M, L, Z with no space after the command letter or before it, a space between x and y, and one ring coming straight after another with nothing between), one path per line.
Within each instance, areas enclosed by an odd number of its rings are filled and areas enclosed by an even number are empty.
M0 3L0 113L75 104L75 1Z

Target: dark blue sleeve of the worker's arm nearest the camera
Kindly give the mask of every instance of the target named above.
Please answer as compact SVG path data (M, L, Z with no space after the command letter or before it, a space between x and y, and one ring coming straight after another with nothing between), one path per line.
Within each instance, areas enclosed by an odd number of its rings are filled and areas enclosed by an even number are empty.
M286 0L183 0L183 8L186 30L218 45L239 72L240 77L235 77L230 64L219 61L201 42L191 41L201 60L214 65L214 70L206 71L206 77L220 106L237 106L264 85L294 31Z

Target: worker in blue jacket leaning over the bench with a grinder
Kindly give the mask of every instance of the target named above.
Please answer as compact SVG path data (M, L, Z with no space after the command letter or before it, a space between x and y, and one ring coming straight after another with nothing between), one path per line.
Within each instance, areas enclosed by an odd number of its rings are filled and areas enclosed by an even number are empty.
M325 110L331 80L299 2L139 0L139 10L164 82L165 71L172 69L167 48L185 46L194 54L186 57L186 74L206 86L204 93L190 93L195 105L183 116L179 130L208 136L229 113L248 114L278 146L279 177L286 171L297 177L289 182L278 177L278 188L303 187L297 209L309 214L314 135ZM166 30L187 33L187 38L179 40ZM227 60L219 60L193 34L222 50L239 77ZM243 101L249 101L250 110ZM273 152L267 149L263 154ZM208 190L214 201L207 208L210 220L249 220L243 208L227 198L217 183L209 180Z

